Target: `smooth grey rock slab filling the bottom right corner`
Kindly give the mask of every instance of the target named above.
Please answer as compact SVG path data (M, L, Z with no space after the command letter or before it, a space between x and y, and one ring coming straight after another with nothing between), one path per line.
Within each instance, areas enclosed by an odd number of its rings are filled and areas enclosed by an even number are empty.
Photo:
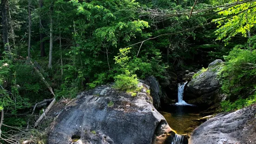
M256 144L256 104L211 118L192 132L189 144Z

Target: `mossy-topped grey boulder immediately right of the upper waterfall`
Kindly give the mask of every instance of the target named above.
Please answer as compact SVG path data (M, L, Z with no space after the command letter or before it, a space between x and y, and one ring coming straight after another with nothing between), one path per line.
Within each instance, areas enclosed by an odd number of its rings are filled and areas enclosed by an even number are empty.
M190 104L210 107L223 100L217 73L222 69L223 61L217 59L207 69L198 71L184 89L184 100Z

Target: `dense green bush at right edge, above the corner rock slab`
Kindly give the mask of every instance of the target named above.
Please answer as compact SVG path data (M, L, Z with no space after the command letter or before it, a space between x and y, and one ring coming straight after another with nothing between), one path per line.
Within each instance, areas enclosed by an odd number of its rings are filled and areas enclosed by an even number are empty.
M228 56L223 69L218 74L222 90L229 95L227 101L221 103L223 111L241 109L256 103L256 51L234 48ZM238 97L240 96L240 97Z

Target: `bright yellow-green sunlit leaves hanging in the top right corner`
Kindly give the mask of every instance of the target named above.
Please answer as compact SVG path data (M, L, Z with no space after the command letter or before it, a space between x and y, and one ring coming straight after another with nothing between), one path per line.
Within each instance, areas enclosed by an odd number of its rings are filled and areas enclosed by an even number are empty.
M230 2L235 2L236 0L231 0ZM236 34L241 33L243 37L247 37L247 32L250 31L252 27L256 24L256 2L243 3L241 5L236 5L230 7L227 10L218 12L219 15L223 17L229 17L234 14L235 16L230 17L229 19L221 20L222 18L213 20L217 21L219 29L215 32L218 35L218 40L223 39L224 42L228 44L228 41L231 40L231 37L236 36ZM253 7L253 8L249 8ZM220 7L218 10L222 10L223 7ZM243 13L241 13L243 12Z

